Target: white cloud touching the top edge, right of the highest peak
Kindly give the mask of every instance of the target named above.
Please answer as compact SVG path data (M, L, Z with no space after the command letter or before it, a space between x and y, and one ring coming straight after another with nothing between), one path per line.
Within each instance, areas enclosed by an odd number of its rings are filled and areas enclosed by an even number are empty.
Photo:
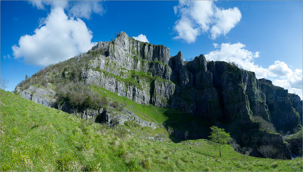
M226 35L242 17L238 8L218 8L214 1L179 1L174 12L179 17L174 26L178 36L174 39L187 43L195 42L198 35L208 31L212 39Z

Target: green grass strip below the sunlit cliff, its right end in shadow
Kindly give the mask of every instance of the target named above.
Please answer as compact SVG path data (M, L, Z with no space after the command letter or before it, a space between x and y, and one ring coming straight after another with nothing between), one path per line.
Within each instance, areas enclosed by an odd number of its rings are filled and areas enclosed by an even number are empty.
M209 134L209 129L203 126L207 126L210 123L206 121L205 119L199 119L197 117L193 117L192 115L189 115L187 113L182 113L182 111L178 109L169 109L169 108L156 108L152 104L149 105L142 105L137 104L134 101L126 98L118 96L116 93L112 93L109 90L106 90L100 86L92 85L90 89L94 90L95 93L103 96L107 96L110 101L118 101L120 104L122 104L124 101L126 102L127 106L126 109L130 109L130 106L134 106L133 112L141 119L150 121L156 124L159 124L160 126L170 126L173 128L178 128L181 130L193 130L196 132L199 130L200 132L204 132L205 135ZM105 93L104 93L105 92ZM193 127L193 122L196 124L203 124ZM182 124L182 125L181 125ZM162 126L162 128L158 128L155 130L151 130L149 127L128 127L126 125L123 125L121 127L126 129L131 129L133 131L139 130L143 133L149 133L149 134L164 134L166 136L169 136L166 129ZM139 132L139 133L140 133ZM179 141L179 139L175 138L174 136L170 136L170 138L174 139L174 141Z

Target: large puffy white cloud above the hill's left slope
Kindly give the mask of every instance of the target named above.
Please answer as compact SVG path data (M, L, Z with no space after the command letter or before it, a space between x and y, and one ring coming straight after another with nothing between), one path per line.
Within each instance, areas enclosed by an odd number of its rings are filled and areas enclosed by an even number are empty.
M42 23L33 35L21 36L19 45L12 47L15 59L47 66L86 52L95 44L85 23L79 18L68 18L61 7L52 8Z

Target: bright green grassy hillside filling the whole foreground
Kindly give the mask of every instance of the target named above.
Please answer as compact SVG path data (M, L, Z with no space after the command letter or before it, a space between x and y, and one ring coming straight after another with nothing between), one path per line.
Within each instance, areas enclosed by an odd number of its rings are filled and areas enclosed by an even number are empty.
M1 90L1 171L302 171L302 158L218 157L205 139L156 142L81 120ZM202 143L202 144L201 144ZM192 149L189 149L192 147Z

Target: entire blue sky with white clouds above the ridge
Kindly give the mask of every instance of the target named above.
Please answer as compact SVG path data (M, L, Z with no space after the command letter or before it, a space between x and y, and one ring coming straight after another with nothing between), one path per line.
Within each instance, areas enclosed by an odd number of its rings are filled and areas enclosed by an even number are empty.
M0 3L0 70L10 91L25 75L124 31L171 56L182 51L184 60L235 61L302 98L302 1Z

